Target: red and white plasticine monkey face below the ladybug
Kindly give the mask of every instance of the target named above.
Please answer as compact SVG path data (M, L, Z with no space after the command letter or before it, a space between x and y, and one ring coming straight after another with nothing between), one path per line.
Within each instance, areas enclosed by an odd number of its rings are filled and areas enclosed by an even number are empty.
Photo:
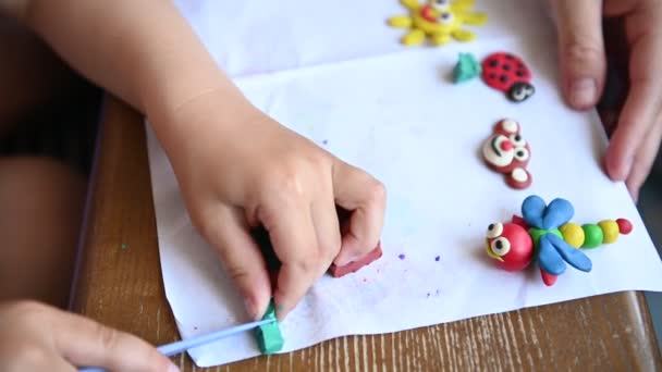
M527 188L534 181L526 170L531 149L519 133L519 123L503 119L494 125L490 138L482 145L482 158L494 171L505 175L508 186Z

